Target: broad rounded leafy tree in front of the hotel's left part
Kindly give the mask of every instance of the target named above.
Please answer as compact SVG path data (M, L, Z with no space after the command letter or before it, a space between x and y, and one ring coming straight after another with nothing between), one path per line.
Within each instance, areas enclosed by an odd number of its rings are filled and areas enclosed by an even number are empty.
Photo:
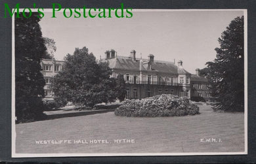
M88 49L75 48L65 57L64 71L53 78L54 99L62 105L71 101L77 106L93 107L116 100L116 80L110 78L108 63L96 63Z

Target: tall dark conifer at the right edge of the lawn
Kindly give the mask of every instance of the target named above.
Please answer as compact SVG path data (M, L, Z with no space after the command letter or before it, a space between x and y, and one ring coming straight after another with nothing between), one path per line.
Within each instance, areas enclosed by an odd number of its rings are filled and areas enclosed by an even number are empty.
M203 74L219 102L216 108L244 111L244 16L232 20L218 41L217 56L206 63Z

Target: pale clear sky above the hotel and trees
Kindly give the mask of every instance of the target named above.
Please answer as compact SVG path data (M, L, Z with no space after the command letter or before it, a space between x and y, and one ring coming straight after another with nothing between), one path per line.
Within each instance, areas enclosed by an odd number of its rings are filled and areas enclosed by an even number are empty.
M45 12L41 19L43 37L56 42L54 57L62 60L75 48L89 48L97 59L106 50L117 56L147 59L149 54L162 61L183 61L183 67L194 74L216 57L217 39L242 10L133 10L132 18L64 18L62 12L51 18Z

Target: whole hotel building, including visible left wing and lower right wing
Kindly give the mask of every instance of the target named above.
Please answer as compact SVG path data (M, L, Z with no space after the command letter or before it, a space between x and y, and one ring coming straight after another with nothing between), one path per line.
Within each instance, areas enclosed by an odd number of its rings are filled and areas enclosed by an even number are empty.
M64 62L53 59L41 60L42 73L46 83L45 99L53 99L51 79L64 69ZM117 56L117 53L111 50L106 51L104 59L100 59L98 62L109 63L109 67L112 69L112 78L117 78L118 74L123 75L126 99L143 99L161 94L188 98L206 96L204 92L198 95L200 91L195 90L196 84L207 85L206 78L188 73L183 68L182 61L178 61L177 64L175 61L158 61L152 54L148 56L148 59L137 58L135 50L131 51L130 56L123 57ZM201 89L198 88L198 90Z

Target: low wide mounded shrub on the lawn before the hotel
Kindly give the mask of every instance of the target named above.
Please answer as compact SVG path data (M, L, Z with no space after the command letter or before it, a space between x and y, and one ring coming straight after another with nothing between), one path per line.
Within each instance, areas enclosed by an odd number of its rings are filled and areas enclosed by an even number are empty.
M198 106L186 97L156 95L146 99L126 100L116 108L117 116L157 117L200 114Z

